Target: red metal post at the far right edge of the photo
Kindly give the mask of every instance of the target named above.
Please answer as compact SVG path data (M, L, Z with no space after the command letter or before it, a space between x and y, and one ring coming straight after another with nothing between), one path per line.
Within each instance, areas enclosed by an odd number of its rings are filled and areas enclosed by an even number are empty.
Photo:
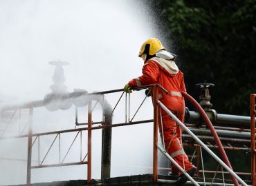
M256 175L255 175L255 94L250 94L250 139L251 139L251 175L252 175L252 185L256 185Z

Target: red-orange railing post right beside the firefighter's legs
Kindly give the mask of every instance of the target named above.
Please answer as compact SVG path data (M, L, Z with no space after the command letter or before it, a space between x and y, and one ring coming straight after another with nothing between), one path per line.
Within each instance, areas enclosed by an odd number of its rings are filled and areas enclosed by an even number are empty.
M154 105L154 138L153 138L153 180L156 182L158 179L158 112L159 105L156 102L158 98L158 88L156 85L152 88L153 92L153 105Z

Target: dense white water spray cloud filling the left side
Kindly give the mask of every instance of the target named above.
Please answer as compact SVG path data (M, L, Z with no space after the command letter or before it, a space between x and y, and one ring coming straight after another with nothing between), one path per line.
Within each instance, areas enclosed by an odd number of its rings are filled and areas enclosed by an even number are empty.
M137 1L0 1L0 101L6 102L8 97L10 101L14 101L12 97L18 101L44 99L53 83L54 68L48 61L59 59L71 64L64 67L68 92L74 88L93 92L123 87L141 73L140 45L150 37L158 37L148 10L147 5ZM151 107L150 101L148 104ZM152 116L147 112L140 114ZM73 111L49 113L42 107L35 109L34 115L35 132L75 127ZM114 121L118 121L118 113L114 116ZM5 125L0 124L1 131ZM100 153L96 152L100 151L101 141L97 138L101 133L93 135L93 145L98 145L93 146L93 178L100 178ZM151 165L152 125L115 128L112 135L111 176L147 173L138 167L125 166L143 167L144 162L145 167ZM69 140L72 138L67 136ZM51 140L42 143L51 145ZM70 141L66 143L68 146ZM21 160L0 160L0 185L26 183L26 140L0 141L0 148L0 156ZM148 150L148 156L143 149ZM36 155L33 161L37 161ZM85 175L83 166L36 169L32 172L32 182L85 179Z

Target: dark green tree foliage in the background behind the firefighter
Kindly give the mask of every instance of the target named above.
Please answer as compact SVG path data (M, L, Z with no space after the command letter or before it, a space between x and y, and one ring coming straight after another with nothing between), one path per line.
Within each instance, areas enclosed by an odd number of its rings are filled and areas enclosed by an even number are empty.
M164 20L165 38L176 45L188 93L207 80L214 109L249 115L256 93L256 1L152 0ZM157 8L156 8L157 7Z

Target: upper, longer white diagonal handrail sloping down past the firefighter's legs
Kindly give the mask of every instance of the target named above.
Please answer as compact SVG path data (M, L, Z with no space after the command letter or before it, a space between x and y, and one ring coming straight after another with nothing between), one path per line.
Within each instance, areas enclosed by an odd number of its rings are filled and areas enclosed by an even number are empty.
M178 125L180 125L181 127L183 127L183 129L185 130L185 132L187 132L188 134L190 134L190 136L192 136L192 138L194 138L194 140L199 143L211 156L212 158L214 158L219 164L222 165L222 167L224 167L233 177L235 177L237 180L239 180L239 183L241 183L242 185L248 186L244 180L241 180L241 178L239 178L239 176L237 176L237 174L235 174L235 172L232 171L232 169L230 169L230 167L228 167L225 163L223 163L223 161L221 161L221 159L216 156L216 154L214 154L196 135L194 135L193 132L191 132L188 127L186 127L181 121L179 121L178 118L176 118L176 116L174 114L172 114L172 112L170 112L170 110L167 109L167 107L165 107L165 105L163 105L163 103L161 103L161 101L157 101L158 105L161 106L161 108L163 110L165 110L165 112L171 116L174 121L176 121L176 123L178 123Z

